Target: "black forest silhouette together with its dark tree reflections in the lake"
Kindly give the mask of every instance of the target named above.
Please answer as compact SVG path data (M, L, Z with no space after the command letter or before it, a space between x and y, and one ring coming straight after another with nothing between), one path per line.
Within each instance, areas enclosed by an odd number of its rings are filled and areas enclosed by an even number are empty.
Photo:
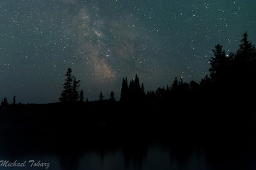
M133 161L141 168L148 146L157 142L168 146L181 169L195 146L204 147L215 169L250 167L256 153L256 48L245 32L237 52L227 54L219 44L212 52L210 74L199 83L180 77L145 92L135 74L123 78L119 101L113 91L109 98L99 92L99 100L88 101L71 68L58 103L21 104L13 96L9 104L4 97L1 150L20 158L27 152L58 154L62 169L78 169L84 152L97 150L104 162L107 151L122 146L125 165Z

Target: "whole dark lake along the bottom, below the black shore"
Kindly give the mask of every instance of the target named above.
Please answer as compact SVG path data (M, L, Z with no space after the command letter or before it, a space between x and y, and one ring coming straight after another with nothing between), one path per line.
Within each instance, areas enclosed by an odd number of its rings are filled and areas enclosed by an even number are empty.
M6 142L6 141L5 141ZM31 145L33 141L19 144L17 141L1 143L0 160L22 163L24 167L0 169L54 169L54 170L128 170L128 169L256 169L255 145L246 141L241 145L225 141L187 143L148 143L145 141L111 143L90 143L86 146L49 146L44 142ZM7 147L5 147L7 146ZM56 147L58 149L55 150ZM3 162L2 161L2 162ZM38 163L39 164L36 164ZM34 163L34 164L32 164ZM48 165L48 166L47 166Z

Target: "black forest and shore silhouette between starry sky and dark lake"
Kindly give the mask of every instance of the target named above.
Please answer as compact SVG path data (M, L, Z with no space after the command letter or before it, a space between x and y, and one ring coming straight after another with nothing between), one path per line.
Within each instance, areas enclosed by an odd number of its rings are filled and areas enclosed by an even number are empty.
M60 139L64 134L74 138L81 133L166 136L170 131L243 136L255 128L256 48L245 32L237 52L227 55L220 44L212 52L210 74L199 83L186 83L180 77L166 88L145 92L135 74L130 81L123 78L120 101L113 91L109 99L100 92L99 101L88 101L79 90L80 80L68 68L58 103L17 104L14 96L9 104L4 97L1 131L40 131Z

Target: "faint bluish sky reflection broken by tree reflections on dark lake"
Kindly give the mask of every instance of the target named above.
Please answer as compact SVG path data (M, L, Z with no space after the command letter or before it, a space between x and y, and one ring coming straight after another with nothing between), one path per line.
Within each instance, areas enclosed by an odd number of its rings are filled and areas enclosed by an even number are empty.
M157 145L143 148L127 148L125 146L104 153L103 159L99 151L88 151L83 154L77 165L74 165L73 169L208 169L204 153L193 150L189 153L188 160L180 164L179 157L170 155L167 146ZM72 169L72 164L69 164L68 167ZM65 168L67 169L67 167Z

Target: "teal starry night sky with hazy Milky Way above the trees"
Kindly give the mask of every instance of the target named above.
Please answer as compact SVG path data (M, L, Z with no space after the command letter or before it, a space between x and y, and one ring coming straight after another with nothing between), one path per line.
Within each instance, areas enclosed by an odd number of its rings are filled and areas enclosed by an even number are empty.
M245 31L256 39L256 1L1 0L0 97L12 103L57 102L67 68L84 97L137 73L145 90L175 76L200 81L212 48L236 52Z

